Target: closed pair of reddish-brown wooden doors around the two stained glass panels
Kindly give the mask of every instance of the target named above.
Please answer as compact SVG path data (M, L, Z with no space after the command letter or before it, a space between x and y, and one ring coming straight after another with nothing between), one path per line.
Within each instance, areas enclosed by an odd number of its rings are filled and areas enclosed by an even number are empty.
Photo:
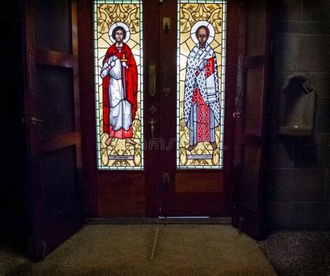
M180 165L178 161L180 127L177 114L178 109L181 108L178 103L178 36L180 36L178 2L143 1L143 8L140 8L143 10L143 23L140 24L143 26L143 63L141 62L143 70L140 72L143 72L144 167L136 171L123 167L109 168L107 157L106 164L102 163L99 157L102 148L103 153L109 149L104 146L104 139L108 136L102 133L104 118L100 116L102 112L99 108L100 104L103 104L99 90L102 87L99 81L100 70L104 65L107 47L112 45L105 36L111 24L120 22L119 11L125 13L129 10L129 6L116 8L111 6L113 4L111 1L108 6L100 10L93 6L92 1L79 1L79 68L83 99L81 118L84 121L82 141L86 215L88 217L229 216L238 49L236 17L240 2L228 1L226 7L223 6L226 10L219 8L221 13L226 14L226 24L221 22L219 28L223 31L227 45L226 55L223 52L226 61L224 59L221 61L221 82L226 85L226 90L223 91L226 93L226 100L221 102L223 162L221 165L217 163L217 169L212 169L211 166L196 166L192 169L185 164ZM200 7L203 9L203 15L212 10L212 7L205 5ZM95 17L98 16L103 18L100 24L95 22ZM213 15L213 18L222 20L221 16L223 15ZM206 15L206 17L210 16ZM127 18L128 16L125 20ZM130 23L125 21L125 24ZM227 26L226 29L221 29L224 28L223 26ZM101 54L97 52L95 59L94 49L97 45L95 40L98 39L102 39L103 44L100 45L103 45L104 49ZM134 44L130 45L134 47ZM154 72L155 81L152 79ZM184 82L184 79L180 79L180 82ZM98 100L96 110L95 99ZM96 124L95 118L97 118ZM97 132L97 129L101 130ZM184 145L186 150L188 146ZM219 143L217 146L220 147ZM207 147L210 148L210 143ZM220 151L218 153L220 155ZM212 149L210 155L212 156Z

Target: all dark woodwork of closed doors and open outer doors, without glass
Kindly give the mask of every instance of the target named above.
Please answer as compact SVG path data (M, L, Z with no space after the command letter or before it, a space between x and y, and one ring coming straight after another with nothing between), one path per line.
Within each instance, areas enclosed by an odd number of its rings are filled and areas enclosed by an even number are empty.
M79 229L84 217L232 216L235 227L261 236L267 5L228 1L226 14L219 169L178 168L178 3L165 0L143 1L144 167L103 170L97 163L93 1L26 1L34 259Z

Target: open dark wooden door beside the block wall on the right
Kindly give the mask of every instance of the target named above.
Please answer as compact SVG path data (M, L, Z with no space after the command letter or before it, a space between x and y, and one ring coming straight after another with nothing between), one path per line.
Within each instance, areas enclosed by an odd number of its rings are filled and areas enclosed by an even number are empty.
M266 94L270 51L269 1L242 1L235 126L233 225L254 238L265 225Z

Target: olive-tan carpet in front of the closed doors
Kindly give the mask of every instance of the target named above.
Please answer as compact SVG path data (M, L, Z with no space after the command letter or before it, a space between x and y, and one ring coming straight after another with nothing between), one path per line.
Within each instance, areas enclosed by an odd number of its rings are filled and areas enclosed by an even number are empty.
M0 250L0 275L276 275L230 225L86 225L31 263Z

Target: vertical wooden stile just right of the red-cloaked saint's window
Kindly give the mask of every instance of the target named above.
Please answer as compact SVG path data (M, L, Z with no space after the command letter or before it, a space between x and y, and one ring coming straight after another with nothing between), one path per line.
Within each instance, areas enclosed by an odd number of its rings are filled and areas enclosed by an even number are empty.
M148 15L148 16L147 16ZM153 26L153 29L150 28ZM146 216L159 216L159 155L157 155L155 148L149 147L150 142L150 119L155 118L157 121L155 128L155 137L159 137L159 95L162 93L159 85L159 76L161 60L159 59L159 3L157 1L143 1L143 116L144 116L144 139L146 141L144 151L144 167L145 167L145 191L146 191ZM148 49L148 51L146 51ZM156 62L156 95L151 97L149 94L149 65L150 61ZM149 109L151 106L157 108L155 114L151 114ZM148 172L148 173L147 173Z

